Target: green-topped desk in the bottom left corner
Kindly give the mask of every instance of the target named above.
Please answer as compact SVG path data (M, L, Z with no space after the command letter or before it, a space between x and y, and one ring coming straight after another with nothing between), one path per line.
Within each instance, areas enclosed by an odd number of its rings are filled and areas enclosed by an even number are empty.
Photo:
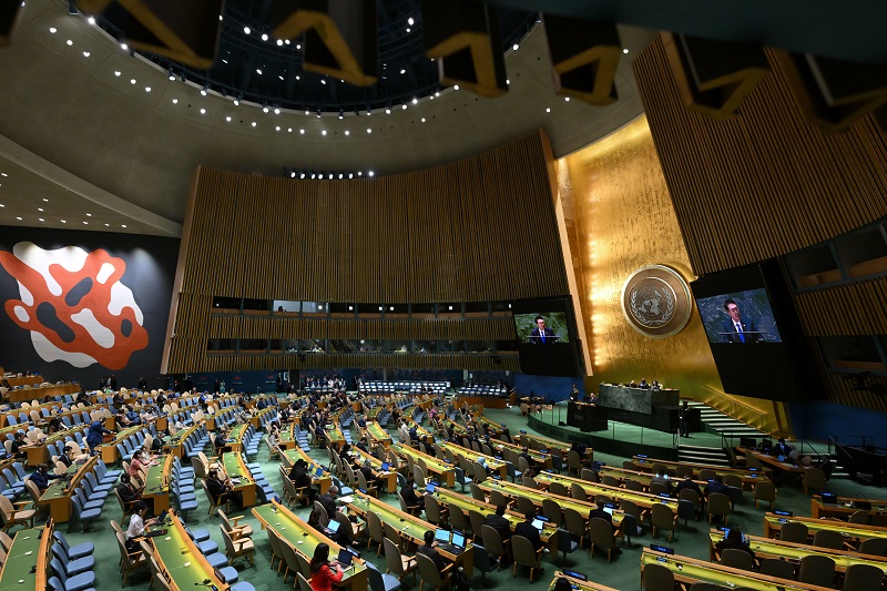
M52 524L16 532L9 557L0 570L0 589L49 589L47 571L52 544Z

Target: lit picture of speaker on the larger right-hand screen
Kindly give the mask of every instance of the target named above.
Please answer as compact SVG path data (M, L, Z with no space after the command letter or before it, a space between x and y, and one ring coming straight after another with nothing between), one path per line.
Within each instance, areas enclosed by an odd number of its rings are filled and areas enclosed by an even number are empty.
M708 343L782 343L767 291L746 289L696 299Z

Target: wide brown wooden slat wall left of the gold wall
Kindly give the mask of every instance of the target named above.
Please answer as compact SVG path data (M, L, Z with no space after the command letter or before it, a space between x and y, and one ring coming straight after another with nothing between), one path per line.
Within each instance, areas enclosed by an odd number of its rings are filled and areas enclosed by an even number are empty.
M569 293L541 133L435 169L302 181L202 169L183 248L166 371L279 367L518 370L517 358L458 355L210 355L210 338L514 338L511 318L225 316L214 296L421 304ZM296 365L294 358L298 360ZM507 359L507 360L506 360ZM322 365L318 365L322 364Z

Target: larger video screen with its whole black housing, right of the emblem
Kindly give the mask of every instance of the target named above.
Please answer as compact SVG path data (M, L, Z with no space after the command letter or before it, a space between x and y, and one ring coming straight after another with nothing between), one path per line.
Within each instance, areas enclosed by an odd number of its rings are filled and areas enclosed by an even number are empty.
M822 396L776 259L706 275L691 288L726 393L783 401Z

